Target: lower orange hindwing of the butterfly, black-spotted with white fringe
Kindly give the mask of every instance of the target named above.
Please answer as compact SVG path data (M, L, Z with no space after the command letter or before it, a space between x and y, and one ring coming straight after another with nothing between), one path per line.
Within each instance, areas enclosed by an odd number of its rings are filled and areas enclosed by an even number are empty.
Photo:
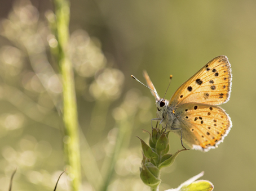
M175 115L179 120L177 127L182 128L182 140L201 151L217 147L232 127L228 114L210 104L185 103L177 108Z

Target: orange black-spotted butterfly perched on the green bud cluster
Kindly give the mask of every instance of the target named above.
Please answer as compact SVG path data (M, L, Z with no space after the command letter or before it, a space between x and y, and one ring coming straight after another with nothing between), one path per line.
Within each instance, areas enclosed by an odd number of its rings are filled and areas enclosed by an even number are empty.
M217 106L226 103L231 93L231 65L226 56L208 62L180 85L170 101L160 98L146 71L144 78L156 98L157 118L152 120L177 133L192 149L207 152L223 142L232 127L228 114Z

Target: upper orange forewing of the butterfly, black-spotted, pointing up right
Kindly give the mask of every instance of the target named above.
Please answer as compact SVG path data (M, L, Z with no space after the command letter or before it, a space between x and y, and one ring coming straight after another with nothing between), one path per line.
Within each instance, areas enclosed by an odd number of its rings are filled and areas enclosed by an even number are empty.
M189 102L222 104L231 93L231 65L226 56L218 56L183 83L173 94L169 106Z

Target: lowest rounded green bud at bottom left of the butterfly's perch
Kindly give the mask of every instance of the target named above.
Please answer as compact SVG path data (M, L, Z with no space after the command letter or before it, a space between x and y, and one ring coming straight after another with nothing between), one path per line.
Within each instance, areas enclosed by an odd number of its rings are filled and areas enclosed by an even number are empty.
M151 162L142 164L142 171L140 171L140 178L145 185L150 187L160 184L161 180L158 179L159 169Z

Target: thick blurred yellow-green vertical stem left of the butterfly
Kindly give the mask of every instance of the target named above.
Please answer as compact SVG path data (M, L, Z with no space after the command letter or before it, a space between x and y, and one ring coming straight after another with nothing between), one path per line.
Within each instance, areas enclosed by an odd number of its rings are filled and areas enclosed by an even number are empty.
M72 176L72 190L81 184L80 148L74 74L67 49L69 43L69 1L54 0L56 14L56 38L59 43L59 67L63 82L63 121L65 126L65 157Z

